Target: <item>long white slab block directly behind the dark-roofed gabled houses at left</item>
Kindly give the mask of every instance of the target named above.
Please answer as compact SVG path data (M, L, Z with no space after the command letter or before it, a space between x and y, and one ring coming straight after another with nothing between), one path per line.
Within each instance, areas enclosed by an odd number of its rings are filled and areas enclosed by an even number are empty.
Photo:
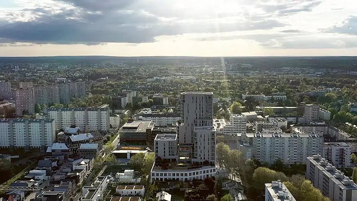
M55 120L56 130L76 125L85 132L107 132L110 130L109 105L98 108L46 108L43 118Z

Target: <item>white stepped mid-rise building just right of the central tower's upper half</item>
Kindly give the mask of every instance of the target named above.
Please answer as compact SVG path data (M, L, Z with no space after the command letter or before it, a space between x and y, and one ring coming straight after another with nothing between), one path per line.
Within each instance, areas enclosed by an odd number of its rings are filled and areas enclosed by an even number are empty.
M223 134L245 134L246 133L246 116L243 114L232 114L230 121L223 126Z

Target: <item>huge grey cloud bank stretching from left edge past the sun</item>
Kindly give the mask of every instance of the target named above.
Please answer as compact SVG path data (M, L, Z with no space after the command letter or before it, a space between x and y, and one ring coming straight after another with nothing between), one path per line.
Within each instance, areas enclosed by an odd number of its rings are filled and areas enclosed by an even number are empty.
M278 17L312 11L321 2L320 0L47 1L47 4L34 8L6 12L5 17L0 19L0 38L11 43L139 44L155 42L156 37L165 35L269 30L287 25L286 22L280 22ZM255 12L256 9L261 9L264 13Z

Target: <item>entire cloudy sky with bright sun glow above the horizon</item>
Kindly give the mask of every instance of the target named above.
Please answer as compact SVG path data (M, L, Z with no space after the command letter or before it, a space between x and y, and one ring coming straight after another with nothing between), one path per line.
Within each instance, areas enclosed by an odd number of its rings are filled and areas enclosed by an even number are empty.
M357 55L356 0L0 0L0 56Z

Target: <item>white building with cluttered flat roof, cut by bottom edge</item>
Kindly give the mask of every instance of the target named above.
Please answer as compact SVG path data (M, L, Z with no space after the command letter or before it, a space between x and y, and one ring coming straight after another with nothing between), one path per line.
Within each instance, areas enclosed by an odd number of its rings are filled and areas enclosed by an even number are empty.
M296 201L280 180L265 184L265 201Z

